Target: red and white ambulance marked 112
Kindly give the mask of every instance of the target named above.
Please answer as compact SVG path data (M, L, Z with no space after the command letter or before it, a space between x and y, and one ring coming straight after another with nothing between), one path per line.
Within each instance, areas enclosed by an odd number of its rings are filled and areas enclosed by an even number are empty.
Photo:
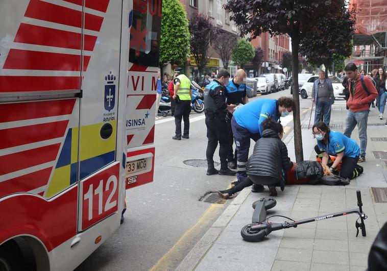
M0 270L72 270L153 180L161 0L0 1Z

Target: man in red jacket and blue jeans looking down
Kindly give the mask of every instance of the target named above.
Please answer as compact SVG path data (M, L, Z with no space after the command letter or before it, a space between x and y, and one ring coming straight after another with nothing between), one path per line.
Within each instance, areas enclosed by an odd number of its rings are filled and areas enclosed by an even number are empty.
M375 100L378 92L376 91L371 79L366 76L363 77L363 81L367 90L363 87L360 73L357 71L355 64L347 64L344 70L348 77L349 89L349 98L347 101L349 109L347 119L345 121L344 134L350 138L353 129L357 125L360 139L359 162L364 162L366 161L367 121L370 108L369 103Z

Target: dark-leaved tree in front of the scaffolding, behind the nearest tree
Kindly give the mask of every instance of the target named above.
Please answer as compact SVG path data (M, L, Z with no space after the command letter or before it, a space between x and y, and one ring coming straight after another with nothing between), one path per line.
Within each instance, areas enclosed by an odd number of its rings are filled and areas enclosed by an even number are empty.
M300 53L315 66L324 64L326 77L335 59L348 58L352 53L353 15L342 3L335 17L319 18L301 40Z

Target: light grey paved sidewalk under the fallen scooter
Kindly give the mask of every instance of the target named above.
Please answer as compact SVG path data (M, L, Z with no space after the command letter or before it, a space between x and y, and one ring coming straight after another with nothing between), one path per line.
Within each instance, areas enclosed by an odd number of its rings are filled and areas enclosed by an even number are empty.
M384 124L385 120L379 120L377 110L372 109L368 123ZM308 124L309 112L303 124ZM332 130L343 132L346 113L345 102L336 101L331 125L338 128ZM304 159L315 160L316 139L311 129L302 129L302 136ZM387 137L387 127L369 125L367 161L361 164L365 172L350 185L289 185L283 192L277 189L277 205L268 212L268 216L281 214L297 220L354 209L357 207L356 190L361 190L363 210L368 216L366 237L361 233L355 237L358 216L351 214L275 231L260 242L246 242L240 230L251 223L252 203L268 196L267 188L260 193L251 193L251 189L246 188L232 200L176 270L365 270L371 244L387 221L387 204L374 203L370 189L387 187L387 159L376 159L373 155L373 151L387 151L387 142L372 141L373 137ZM359 143L357 128L352 138ZM292 132L284 142L294 161ZM279 222L284 218L271 220Z

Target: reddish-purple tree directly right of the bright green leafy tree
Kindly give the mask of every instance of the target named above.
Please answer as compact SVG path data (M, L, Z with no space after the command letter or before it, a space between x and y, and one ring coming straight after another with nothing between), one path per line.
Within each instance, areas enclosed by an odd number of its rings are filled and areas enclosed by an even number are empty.
M212 24L212 19L202 13L192 14L188 29L191 33L191 54L195 57L200 76L210 60L211 56L208 55L208 51L219 30Z

